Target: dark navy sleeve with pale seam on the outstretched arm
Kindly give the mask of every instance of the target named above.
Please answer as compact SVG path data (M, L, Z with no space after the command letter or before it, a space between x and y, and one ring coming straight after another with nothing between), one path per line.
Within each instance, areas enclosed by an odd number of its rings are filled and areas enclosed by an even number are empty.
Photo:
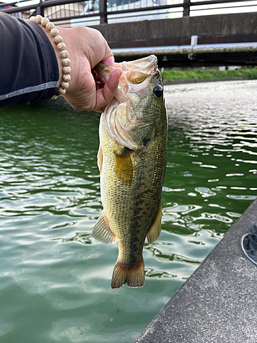
M49 99L59 69L40 25L0 12L0 106Z

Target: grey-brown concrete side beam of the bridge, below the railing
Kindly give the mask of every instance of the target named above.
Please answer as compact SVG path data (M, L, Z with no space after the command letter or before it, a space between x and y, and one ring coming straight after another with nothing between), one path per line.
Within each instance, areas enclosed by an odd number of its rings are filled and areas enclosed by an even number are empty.
M96 25L110 47L186 45L197 35L198 44L257 41L257 13L183 17L132 23Z

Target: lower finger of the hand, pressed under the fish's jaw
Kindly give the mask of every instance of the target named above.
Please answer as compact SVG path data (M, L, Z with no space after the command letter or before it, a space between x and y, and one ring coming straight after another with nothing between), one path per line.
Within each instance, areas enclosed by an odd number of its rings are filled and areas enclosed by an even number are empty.
M98 89L96 93L95 108L106 106L116 95L121 77L122 70L117 68L112 71L110 78L102 89Z

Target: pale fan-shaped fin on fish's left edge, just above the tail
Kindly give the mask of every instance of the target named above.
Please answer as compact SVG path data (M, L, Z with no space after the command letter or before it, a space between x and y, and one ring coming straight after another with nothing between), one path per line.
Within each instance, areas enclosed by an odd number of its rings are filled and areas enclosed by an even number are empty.
M97 239L97 241L101 241L106 244L114 244L117 241L116 236L112 233L112 230L108 225L103 211L101 211L100 217L93 228L93 237Z

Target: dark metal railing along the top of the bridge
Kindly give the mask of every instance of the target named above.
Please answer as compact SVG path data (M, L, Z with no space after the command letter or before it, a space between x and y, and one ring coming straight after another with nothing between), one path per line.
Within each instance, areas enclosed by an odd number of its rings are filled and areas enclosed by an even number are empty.
M29 4L30 2L30 4ZM138 20L138 16L152 16L157 19L191 16L192 13L205 10L220 10L224 8L252 8L257 3L254 0L21 0L12 3L0 3L0 11L28 19L32 14L47 16L51 21L62 26L90 25L89 19L97 19L106 24L119 17L120 21L127 18ZM245 10L242 10L245 12ZM197 14L196 14L197 15ZM137 18L136 18L137 16ZM147 18L148 19L148 18ZM92 23L91 23L92 25Z

